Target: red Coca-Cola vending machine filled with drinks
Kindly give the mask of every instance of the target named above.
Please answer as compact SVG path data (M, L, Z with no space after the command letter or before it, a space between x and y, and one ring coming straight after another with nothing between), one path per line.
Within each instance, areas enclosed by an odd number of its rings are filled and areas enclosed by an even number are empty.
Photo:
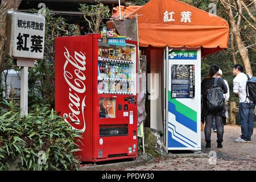
M81 131L83 162L137 158L137 42L55 39L55 109Z

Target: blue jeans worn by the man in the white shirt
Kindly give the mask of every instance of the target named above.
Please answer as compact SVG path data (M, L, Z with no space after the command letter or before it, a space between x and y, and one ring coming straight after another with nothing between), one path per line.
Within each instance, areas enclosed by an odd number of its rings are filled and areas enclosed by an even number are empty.
M241 102L239 104L241 138L244 140L250 141L251 135L253 135L254 108L255 104L253 103Z

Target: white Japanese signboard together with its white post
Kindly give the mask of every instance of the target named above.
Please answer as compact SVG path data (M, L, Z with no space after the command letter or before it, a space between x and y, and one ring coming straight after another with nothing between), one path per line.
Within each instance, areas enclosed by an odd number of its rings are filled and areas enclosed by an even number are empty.
M20 70L20 112L28 113L28 67L34 67L34 61L44 55L44 16L8 11L7 13L7 46L6 52L16 59Z

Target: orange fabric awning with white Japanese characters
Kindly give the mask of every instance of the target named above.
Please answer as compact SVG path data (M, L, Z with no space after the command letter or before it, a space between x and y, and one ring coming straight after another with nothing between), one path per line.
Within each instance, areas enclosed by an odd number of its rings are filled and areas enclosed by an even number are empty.
M113 18L119 16L118 7ZM228 48L226 20L177 0L151 0L141 7L121 10L123 16L138 16L141 47L202 47L202 56Z

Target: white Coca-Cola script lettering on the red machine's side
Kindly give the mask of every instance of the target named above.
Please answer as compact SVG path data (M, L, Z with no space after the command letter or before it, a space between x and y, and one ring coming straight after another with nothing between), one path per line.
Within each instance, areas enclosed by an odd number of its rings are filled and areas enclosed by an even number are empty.
M64 47L65 48L65 47ZM82 52L76 52L75 56L71 56L69 54L69 51L67 48L65 48L64 52L65 56L65 64L64 64L64 78L69 86L69 113L64 113L63 117L67 117L64 120L68 122L73 128L80 130L82 132L85 131L85 115L84 115L84 109L85 109L85 98L82 98L82 101L80 97L77 94L85 93L86 86L84 84L84 81L86 80L86 77L84 75L84 72L86 70L85 64L86 64L86 57ZM74 72L68 72L66 71L67 67L75 67ZM71 69L69 69L71 70ZM82 112L82 118L79 117Z

